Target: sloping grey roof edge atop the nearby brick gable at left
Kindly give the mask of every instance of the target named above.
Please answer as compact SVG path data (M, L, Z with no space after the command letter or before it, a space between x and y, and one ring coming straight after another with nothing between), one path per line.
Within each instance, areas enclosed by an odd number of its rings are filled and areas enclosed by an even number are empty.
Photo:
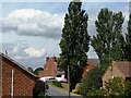
M26 73L28 73L29 75L36 77L36 78L39 78L38 76L36 76L35 74L33 74L32 72L29 72L27 69L25 69L22 64L17 63L16 61L14 61L13 59L11 59L10 57L8 57L7 54L4 53L1 53L0 52L0 56L2 58L5 58L7 60L11 61L12 63L14 63L16 66L19 66L20 69L22 69L23 71L25 71Z

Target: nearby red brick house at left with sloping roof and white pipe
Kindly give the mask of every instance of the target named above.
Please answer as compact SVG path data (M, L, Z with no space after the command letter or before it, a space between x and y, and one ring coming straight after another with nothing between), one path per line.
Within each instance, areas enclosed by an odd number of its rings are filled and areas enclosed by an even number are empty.
M11 98L11 96L32 98L37 79L38 77L23 65L0 53L0 98L2 96L3 98Z

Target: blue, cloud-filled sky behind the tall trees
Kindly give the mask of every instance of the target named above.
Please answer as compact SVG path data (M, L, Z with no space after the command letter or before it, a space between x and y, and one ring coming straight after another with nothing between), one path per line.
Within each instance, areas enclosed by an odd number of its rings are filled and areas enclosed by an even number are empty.
M43 68L46 57L59 57L59 42L68 12L69 1L51 0L7 0L0 3L0 52L8 56L25 68ZM95 21L103 8L114 12L123 12L123 33L127 33L129 15L128 0L84 0L82 9L88 14L88 34L96 34ZM88 58L97 58L90 47Z

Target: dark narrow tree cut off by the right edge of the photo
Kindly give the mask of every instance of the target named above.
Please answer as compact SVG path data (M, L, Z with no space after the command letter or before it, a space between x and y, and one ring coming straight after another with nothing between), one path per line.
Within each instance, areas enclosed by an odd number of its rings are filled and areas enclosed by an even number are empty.
M131 13L128 22L128 34L126 34L126 59L131 61Z

